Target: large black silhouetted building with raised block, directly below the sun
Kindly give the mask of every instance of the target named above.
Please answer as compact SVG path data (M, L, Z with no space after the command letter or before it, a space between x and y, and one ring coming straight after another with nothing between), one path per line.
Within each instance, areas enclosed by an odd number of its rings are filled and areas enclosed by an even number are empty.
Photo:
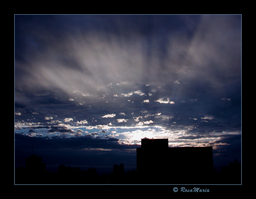
M147 184L207 182L212 171L212 146L169 148L168 139L142 139L137 148L137 172Z

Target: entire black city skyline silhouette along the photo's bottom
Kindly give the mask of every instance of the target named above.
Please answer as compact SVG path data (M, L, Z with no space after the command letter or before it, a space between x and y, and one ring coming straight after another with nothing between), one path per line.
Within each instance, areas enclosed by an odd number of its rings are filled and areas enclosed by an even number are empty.
M142 139L137 148L137 169L125 171L114 164L109 174L97 169L59 165L57 172L46 170L42 157L31 154L25 168L15 169L15 184L241 184L241 163L213 167L212 146L168 147L168 139Z

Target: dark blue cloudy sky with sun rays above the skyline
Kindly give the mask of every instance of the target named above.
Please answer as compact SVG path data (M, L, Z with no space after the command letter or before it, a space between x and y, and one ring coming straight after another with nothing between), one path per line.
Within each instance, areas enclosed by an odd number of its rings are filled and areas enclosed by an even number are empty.
M241 163L241 15L15 15L15 167L136 170L142 138Z

